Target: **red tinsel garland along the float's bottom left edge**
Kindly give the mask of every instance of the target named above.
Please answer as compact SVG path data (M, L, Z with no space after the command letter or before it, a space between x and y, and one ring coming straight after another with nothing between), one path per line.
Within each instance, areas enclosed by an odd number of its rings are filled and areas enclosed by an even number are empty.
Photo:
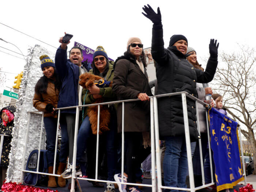
M59 192L52 189L42 189L38 187L18 184L16 182L7 182L2 185L1 188L4 192Z

